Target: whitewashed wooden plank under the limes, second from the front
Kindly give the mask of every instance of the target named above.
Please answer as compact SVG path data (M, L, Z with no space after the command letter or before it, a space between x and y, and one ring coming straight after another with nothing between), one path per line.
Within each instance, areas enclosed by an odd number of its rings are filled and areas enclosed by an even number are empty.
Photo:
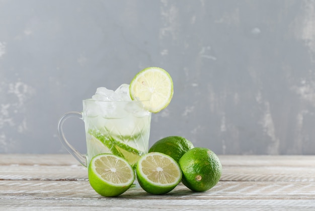
M102 199L89 181L24 181L0 180L2 199ZM117 198L133 199L290 199L315 200L314 182L225 182L220 181L206 192L193 192L180 183L165 195L146 193L130 188ZM315 202L315 201L314 201Z

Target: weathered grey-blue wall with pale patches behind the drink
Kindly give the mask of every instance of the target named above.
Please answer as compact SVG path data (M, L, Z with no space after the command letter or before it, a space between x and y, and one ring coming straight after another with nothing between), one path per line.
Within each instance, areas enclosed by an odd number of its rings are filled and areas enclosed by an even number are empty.
M315 154L313 0L0 0L0 153L66 153L59 117L148 66L175 90L150 145ZM83 122L65 130L85 152Z

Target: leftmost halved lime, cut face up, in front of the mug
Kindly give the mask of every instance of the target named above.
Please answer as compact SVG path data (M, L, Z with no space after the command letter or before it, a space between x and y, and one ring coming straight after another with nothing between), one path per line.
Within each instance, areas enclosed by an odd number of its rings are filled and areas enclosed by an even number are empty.
M99 154L92 158L89 168L92 188L102 196L117 196L125 192L135 179L126 160L113 154Z

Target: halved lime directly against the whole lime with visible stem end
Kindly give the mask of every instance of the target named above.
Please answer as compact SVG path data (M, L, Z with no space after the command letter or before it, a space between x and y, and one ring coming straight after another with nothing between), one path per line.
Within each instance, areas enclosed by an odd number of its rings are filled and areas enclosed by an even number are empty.
M182 178L178 163L160 152L143 155L137 163L136 172L139 185L152 194L170 192Z

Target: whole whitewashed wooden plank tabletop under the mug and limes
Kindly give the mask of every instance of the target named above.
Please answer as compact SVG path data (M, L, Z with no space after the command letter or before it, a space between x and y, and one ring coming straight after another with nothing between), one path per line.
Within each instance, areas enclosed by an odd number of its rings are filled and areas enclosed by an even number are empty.
M67 154L0 154L1 210L315 210L315 156L219 156L216 186L183 184L165 195L132 188L98 195L87 170Z

